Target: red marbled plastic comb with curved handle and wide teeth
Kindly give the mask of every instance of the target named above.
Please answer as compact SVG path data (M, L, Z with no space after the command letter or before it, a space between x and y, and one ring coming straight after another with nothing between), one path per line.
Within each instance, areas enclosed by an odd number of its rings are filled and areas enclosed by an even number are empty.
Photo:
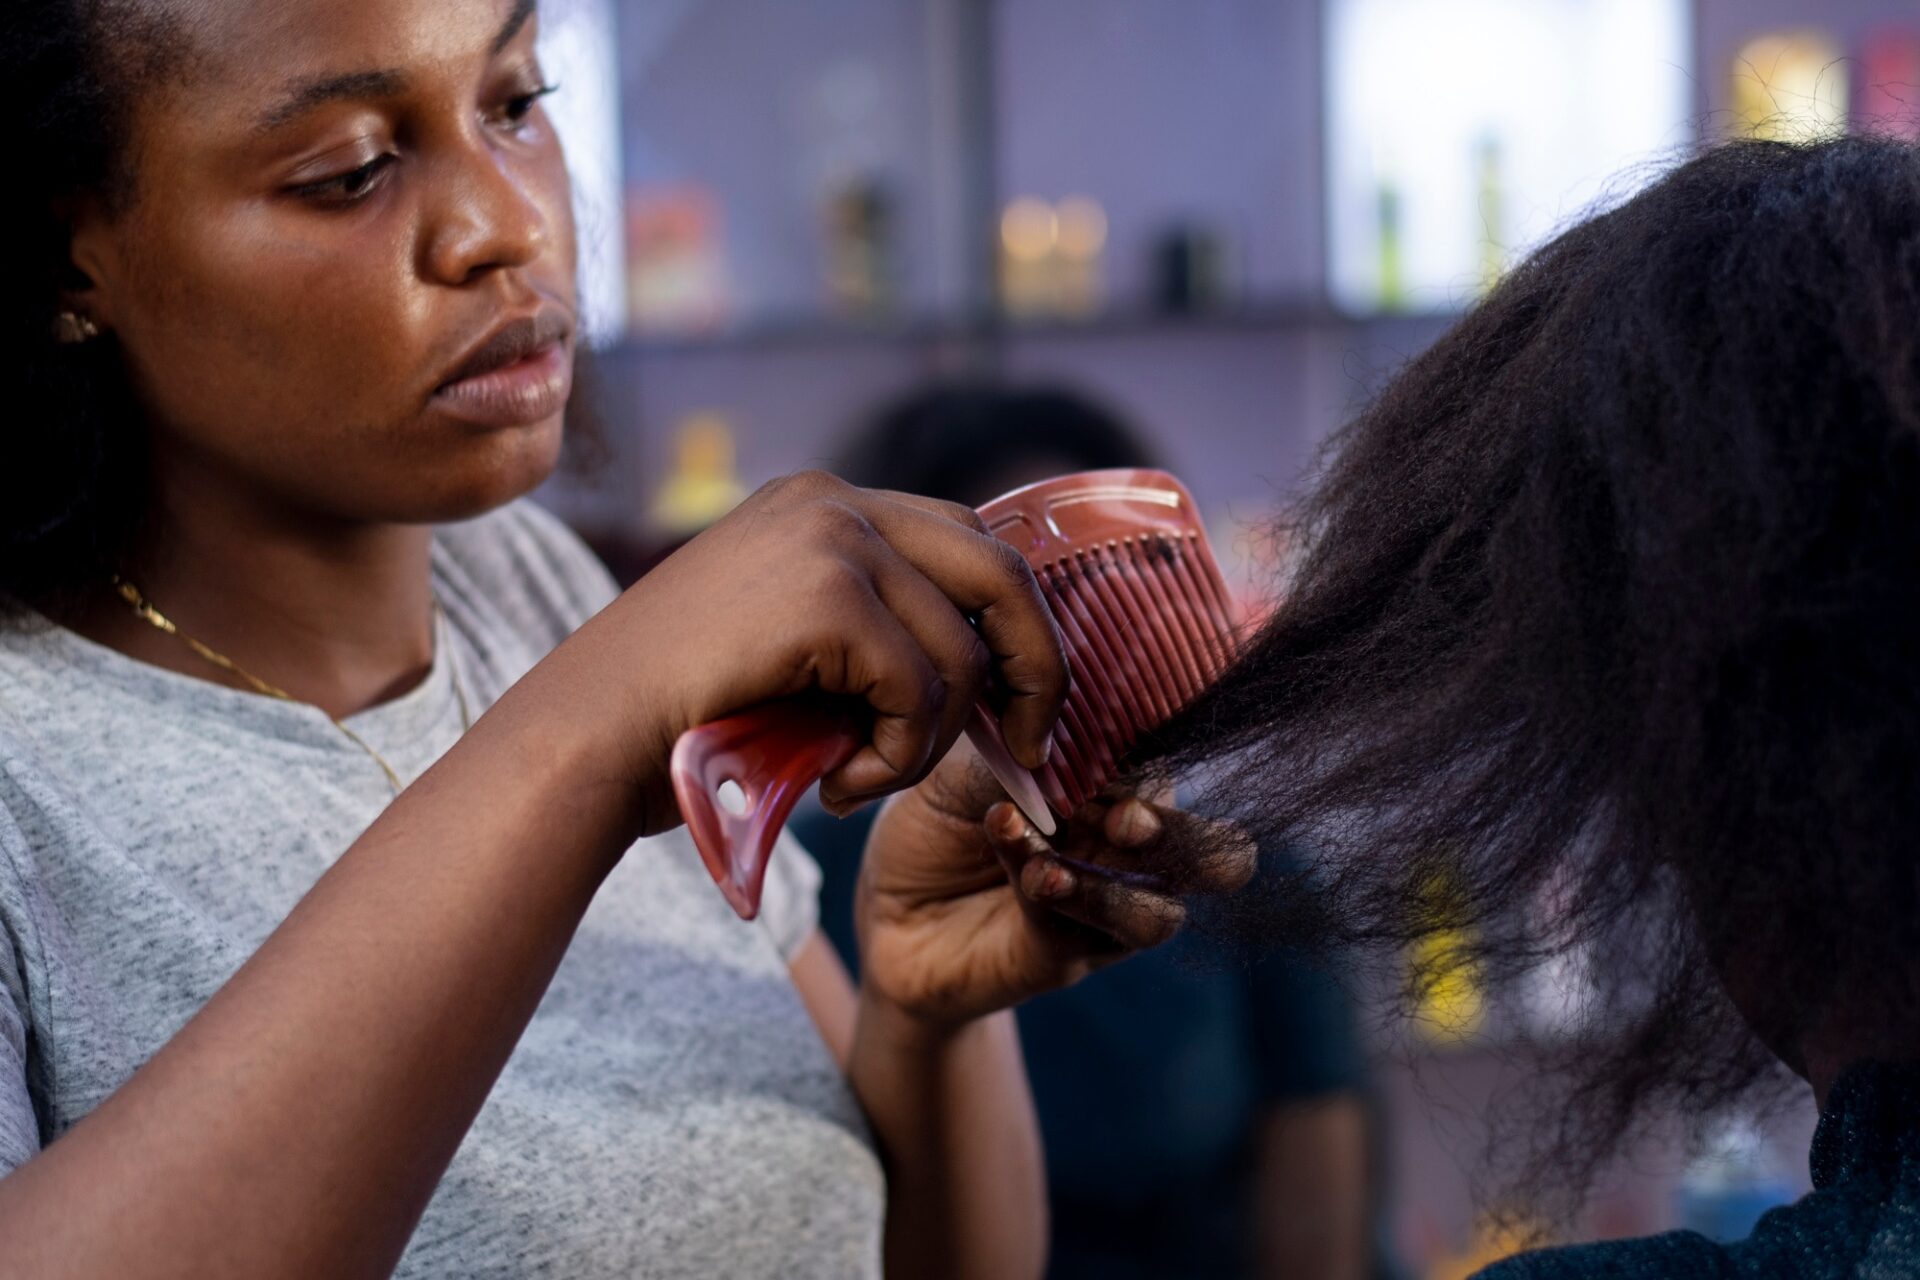
M1035 777L975 708L968 737L1044 835L1096 796L1140 735L1206 689L1238 647L1238 610L1179 480L1100 470L1046 480L979 510L1039 578L1068 652L1068 700ZM693 842L733 910L753 919L793 804L864 741L852 704L795 700L689 729L672 779Z

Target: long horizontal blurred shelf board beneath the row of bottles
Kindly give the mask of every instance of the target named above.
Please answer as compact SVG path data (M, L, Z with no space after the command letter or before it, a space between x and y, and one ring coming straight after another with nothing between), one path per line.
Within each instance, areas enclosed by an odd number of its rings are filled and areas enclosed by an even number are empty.
M1087 319L1014 317L920 317L852 320L833 317L785 317L753 320L710 334L637 334L609 347L612 355L737 355L797 351L806 347L872 345L970 345L1021 340L1077 338L1192 338L1248 332L1354 332L1382 326L1444 326L1457 311L1388 311L1352 315L1311 297L1298 301L1244 303L1212 311L1162 313L1116 309Z

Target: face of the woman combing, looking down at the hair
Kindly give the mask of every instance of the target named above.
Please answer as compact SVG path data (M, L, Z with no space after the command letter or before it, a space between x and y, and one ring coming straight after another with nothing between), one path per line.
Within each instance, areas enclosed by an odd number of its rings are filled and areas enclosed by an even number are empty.
M184 48L134 102L132 200L75 225L71 301L119 340L157 474L328 522L534 487L574 226L532 0L154 6Z

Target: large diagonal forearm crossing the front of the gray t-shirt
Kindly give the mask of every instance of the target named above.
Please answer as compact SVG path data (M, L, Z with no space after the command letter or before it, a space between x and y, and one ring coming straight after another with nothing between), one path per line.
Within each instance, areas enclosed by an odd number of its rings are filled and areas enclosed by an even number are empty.
M637 821L563 725L482 718L129 1084L0 1180L0 1272L388 1274Z

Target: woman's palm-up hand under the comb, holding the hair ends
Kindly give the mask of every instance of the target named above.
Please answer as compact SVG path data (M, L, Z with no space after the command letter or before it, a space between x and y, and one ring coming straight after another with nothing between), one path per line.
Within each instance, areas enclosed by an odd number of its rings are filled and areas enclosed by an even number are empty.
M1196 825L1219 829L1196 841ZM854 906L862 998L960 1025L1165 942L1185 896L1254 875L1244 839L1135 794L1089 804L1056 842L962 741L874 823ZM1206 856L1167 865L1171 844Z

